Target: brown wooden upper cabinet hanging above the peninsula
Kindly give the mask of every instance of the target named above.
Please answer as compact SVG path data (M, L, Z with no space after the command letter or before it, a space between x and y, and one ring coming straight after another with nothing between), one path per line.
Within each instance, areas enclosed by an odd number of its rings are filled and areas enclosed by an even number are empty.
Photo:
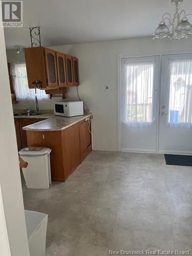
M79 85L78 59L45 47L25 49L29 89L39 82L43 90Z

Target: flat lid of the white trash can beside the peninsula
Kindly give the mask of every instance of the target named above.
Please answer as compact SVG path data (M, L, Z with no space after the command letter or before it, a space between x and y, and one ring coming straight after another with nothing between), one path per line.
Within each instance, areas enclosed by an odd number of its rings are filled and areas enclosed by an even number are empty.
M20 156L43 156L51 153L49 147L24 147L18 152Z

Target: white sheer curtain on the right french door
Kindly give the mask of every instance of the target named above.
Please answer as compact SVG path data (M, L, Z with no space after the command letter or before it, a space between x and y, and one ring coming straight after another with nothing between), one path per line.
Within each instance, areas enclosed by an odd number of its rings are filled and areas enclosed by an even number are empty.
M192 59L169 62L168 124L174 127L192 126Z

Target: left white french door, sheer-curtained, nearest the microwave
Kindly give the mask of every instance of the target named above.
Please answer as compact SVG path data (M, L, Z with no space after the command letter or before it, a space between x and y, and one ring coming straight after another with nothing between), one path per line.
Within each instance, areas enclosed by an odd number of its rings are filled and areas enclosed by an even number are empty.
M122 151L156 152L159 56L122 59Z

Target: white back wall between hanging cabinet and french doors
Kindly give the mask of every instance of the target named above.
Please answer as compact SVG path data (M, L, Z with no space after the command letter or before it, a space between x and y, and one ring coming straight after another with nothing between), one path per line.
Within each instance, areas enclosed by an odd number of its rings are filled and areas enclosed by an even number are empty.
M117 54L183 52L192 51L191 46L192 37L183 41L154 41L152 37L143 37L49 48L79 58L79 94L94 114L93 147L95 150L116 151ZM8 60L11 58L8 53ZM110 90L106 91L105 86ZM68 95L76 98L76 89L70 88Z

